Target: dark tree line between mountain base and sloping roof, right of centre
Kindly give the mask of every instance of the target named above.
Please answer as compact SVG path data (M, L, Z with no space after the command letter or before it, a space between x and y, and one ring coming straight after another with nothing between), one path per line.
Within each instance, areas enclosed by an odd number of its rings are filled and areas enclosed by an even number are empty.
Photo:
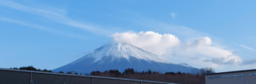
M166 72L160 73L159 71L142 71L138 72L132 68L125 69L123 72L119 70L105 70L100 72L98 70L92 71L91 76L109 76L109 77L119 77L137 80L148 80L148 81L166 81L173 83L182 84L205 84L205 75L214 73L212 68L202 68L195 69L191 71L192 73L182 73L178 72Z

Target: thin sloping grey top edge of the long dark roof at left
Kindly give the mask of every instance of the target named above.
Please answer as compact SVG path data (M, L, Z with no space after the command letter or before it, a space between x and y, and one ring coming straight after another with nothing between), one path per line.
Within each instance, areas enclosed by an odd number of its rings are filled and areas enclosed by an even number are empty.
M7 69L7 68L0 68L0 70L19 71L19 72L27 72L27 73L39 73L39 74L51 74L51 75L61 75L61 76L80 76L80 75L73 75L73 74L61 74L61 73L56 73L56 72L43 72L43 71L35 71L35 70L13 70L13 69ZM81 76L81 77L113 79L113 80L123 80L123 81L143 81L143 82L162 83L162 84L180 84L180 83L172 83L172 82L146 81L146 80L136 80L136 79L127 79L127 78L108 77L108 76Z

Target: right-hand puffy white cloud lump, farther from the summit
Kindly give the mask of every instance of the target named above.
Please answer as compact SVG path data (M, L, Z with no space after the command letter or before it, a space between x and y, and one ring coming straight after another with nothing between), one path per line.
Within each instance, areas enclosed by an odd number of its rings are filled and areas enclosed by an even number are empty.
M212 46L209 37L201 37L193 42L184 42L177 48L177 54L190 58L201 57L201 61L213 64L241 64L241 59L230 50Z

